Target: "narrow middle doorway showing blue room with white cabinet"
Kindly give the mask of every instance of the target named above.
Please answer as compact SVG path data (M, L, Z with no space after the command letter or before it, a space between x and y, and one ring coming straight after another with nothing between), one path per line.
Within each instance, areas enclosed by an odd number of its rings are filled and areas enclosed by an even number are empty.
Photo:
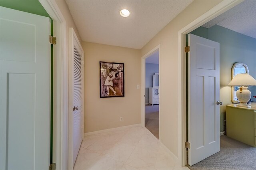
M141 125L151 130L151 133L160 139L160 45L142 56L141 61ZM156 83L154 87L153 75L155 75L154 83ZM151 100L149 90L151 90L151 95L154 95L151 96Z

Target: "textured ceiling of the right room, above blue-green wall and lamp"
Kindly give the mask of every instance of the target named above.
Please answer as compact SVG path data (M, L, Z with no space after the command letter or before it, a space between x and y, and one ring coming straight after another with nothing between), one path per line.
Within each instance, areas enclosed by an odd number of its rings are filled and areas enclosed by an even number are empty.
M256 38L256 0L245 0L234 8L203 25L210 28L215 24Z

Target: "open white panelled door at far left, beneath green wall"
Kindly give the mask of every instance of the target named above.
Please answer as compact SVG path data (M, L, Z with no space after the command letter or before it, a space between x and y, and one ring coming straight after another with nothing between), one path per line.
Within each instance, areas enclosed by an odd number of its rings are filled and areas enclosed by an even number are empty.
M50 164L50 19L0 7L0 169Z

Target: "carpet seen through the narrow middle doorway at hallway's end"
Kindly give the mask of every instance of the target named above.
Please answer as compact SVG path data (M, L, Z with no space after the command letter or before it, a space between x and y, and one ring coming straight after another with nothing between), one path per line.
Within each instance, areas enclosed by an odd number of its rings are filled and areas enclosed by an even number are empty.
M146 105L146 128L159 139L159 105Z

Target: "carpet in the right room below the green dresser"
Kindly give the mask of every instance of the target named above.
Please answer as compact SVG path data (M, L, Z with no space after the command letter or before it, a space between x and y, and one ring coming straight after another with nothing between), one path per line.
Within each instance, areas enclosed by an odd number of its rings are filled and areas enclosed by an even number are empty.
M255 170L256 148L222 135L220 152L188 168L190 170Z

